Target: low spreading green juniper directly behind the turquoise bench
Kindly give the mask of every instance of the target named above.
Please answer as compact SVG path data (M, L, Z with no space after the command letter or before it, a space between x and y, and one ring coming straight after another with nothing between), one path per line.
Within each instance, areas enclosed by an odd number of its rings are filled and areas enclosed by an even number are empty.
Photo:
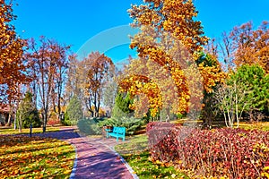
M112 117L99 123L99 126L121 126L126 127L126 134L133 135L143 125L142 119L134 117Z

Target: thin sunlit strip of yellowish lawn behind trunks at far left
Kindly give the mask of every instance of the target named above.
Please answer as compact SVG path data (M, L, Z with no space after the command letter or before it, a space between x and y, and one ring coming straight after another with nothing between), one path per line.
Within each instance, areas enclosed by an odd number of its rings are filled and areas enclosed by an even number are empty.
M46 132L57 132L59 127L47 127ZM32 133L41 133L43 128L32 128ZM0 134L27 134L30 133L30 129L22 129L20 133L18 129L14 130L13 128L0 128Z

